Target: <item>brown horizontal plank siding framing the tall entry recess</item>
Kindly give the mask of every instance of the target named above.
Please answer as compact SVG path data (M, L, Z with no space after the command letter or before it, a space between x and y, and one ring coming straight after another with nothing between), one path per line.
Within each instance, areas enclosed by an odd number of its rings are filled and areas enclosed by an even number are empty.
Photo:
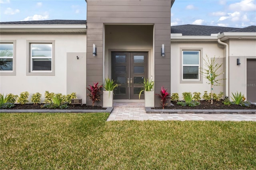
M103 67L99 66L104 64L104 25L146 24L154 25L155 93L160 92L162 85L170 90L171 3L171 0L87 0L87 86L103 81ZM94 43L97 47L96 57L92 56ZM160 53L163 43L165 57L161 57ZM90 104L89 99L87 102ZM160 100L155 97L155 104L159 103ZM99 105L102 105L102 101Z

